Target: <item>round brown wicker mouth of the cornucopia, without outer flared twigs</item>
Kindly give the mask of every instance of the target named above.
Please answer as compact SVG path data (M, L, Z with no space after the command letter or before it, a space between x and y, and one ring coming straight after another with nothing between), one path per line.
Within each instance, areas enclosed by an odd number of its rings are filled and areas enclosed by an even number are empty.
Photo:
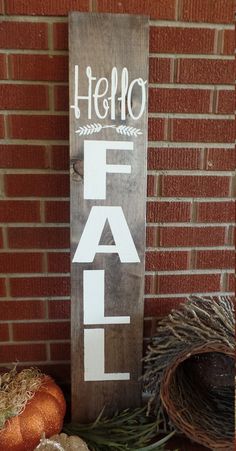
M186 374L184 365L186 359L193 355L216 352L227 355L231 367L233 353L228 353L223 347L193 349L191 354L181 355L165 371L160 397L172 422L190 439L210 449L233 450L233 387L209 389L201 383L201 379L197 381L191 373Z

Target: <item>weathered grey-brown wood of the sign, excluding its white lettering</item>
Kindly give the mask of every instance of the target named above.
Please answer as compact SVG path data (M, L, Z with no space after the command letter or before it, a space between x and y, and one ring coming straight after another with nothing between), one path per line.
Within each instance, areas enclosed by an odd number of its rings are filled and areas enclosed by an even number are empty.
M129 71L130 81L138 77L148 79L148 19L143 16L112 14L70 14L70 105L74 102L74 66L79 65L81 93L87 91L85 70L91 66L97 77L107 77L113 66L121 72ZM147 89L147 84L146 84ZM133 90L133 104L139 96ZM146 197L146 142L147 108L138 120L130 116L121 121L107 118L87 118L86 102L81 102L81 117L75 119L70 112L70 160L71 160L71 255L79 243L92 206L122 206L129 225L140 263L120 263L117 254L96 254L93 263L72 263L72 416L74 420L94 420L102 408L112 414L117 409L134 407L141 402L140 376L143 346L143 294L145 250L145 197ZM118 109L117 109L118 113ZM138 137L117 134L105 128L99 134L79 136L75 130L88 123L106 125L122 124L136 127L143 134ZM106 200L83 198L83 148L84 139L133 141L132 152L109 152L109 163L130 164L132 173L107 175ZM117 163L118 162L118 163ZM104 228L102 241L112 243L110 228ZM105 325L105 371L129 372L129 381L84 382L83 336L83 271L104 269L105 315L130 316L131 323ZM94 349L94 355L96 349Z

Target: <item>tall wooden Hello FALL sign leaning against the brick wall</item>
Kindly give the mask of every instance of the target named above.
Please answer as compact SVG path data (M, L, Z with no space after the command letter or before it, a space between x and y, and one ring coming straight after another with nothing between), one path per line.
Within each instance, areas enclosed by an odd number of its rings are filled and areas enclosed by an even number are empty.
M140 405L148 19L70 14L72 414Z

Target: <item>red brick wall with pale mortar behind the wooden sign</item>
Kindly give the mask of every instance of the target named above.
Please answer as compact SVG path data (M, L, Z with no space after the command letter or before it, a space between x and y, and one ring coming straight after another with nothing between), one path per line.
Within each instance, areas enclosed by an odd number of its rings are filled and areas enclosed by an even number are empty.
M231 0L0 0L0 366L69 379L69 10L150 14L145 340L232 293Z

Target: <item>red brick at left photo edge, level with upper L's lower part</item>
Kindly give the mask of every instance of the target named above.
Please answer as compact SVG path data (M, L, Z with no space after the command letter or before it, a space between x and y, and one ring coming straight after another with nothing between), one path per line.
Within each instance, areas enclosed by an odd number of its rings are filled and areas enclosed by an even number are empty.
M2 321L24 319L43 319L46 316L43 301L1 301L0 318Z

